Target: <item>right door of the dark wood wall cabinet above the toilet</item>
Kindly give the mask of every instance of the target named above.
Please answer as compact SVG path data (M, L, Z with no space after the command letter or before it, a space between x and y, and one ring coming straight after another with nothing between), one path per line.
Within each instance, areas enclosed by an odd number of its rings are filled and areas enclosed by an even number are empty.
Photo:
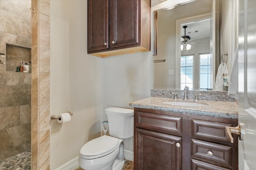
M110 0L110 2L111 46L117 48L138 44L140 37L140 0Z

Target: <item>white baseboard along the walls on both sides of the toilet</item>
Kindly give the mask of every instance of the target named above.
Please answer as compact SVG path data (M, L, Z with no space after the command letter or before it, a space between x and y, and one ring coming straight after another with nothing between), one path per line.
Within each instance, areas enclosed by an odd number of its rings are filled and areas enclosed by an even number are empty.
M124 158L127 159L127 160L133 161L133 152L130 151L130 150L125 150L124 149ZM76 168L79 168L78 156L76 158L70 160L66 164L60 166L56 170L74 170Z

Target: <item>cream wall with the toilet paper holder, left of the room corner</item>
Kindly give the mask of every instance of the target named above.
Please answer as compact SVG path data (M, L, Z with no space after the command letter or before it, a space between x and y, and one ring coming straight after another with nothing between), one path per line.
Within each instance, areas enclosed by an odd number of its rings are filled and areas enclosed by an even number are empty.
M87 54L86 9L84 0L50 1L50 115L74 114L70 122L50 121L52 170L100 136L102 59Z

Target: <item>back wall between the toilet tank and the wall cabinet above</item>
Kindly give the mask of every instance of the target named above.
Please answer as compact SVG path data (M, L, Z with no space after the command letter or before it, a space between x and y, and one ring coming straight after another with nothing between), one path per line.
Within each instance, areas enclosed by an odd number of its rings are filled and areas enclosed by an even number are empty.
M102 113L107 107L129 106L130 102L150 97L152 52L102 59ZM133 137L124 139L124 149L133 151Z

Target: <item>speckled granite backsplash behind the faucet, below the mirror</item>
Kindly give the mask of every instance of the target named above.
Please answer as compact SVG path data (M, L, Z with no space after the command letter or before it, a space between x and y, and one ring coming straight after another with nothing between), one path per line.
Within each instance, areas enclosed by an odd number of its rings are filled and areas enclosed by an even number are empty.
M174 94L170 94L170 92L177 93L179 99L182 99L184 97L184 90L161 90L161 89L152 89L151 97L173 98ZM200 96L200 100L234 102L234 98L228 96L228 92L217 92L217 91L189 90L188 98L191 100L194 99L196 93L202 94L202 96Z

